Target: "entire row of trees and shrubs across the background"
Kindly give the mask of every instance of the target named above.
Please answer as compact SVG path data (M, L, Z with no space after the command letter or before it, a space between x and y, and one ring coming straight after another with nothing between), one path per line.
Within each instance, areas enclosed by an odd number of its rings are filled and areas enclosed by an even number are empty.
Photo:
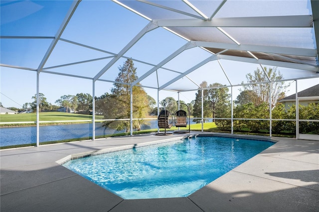
M96 114L104 115L105 119L120 119L117 121L105 121L105 126L117 130L125 129L126 132L130 131L130 121L122 119L130 119L131 116L131 83L138 79L137 68L134 67L132 60L127 59L123 66L119 67L119 74L113 84L111 93L105 93L100 97L95 97L95 112ZM277 68L264 68L260 70L257 68L253 73L246 75L246 82L242 82L242 88L240 94L233 102L233 117L234 118L260 118L266 119L270 116L270 110L272 110L272 118L286 119L291 118L294 114L294 108L285 109L284 106L278 103L279 100L285 97L286 89L289 85L285 85L283 81L283 75ZM268 83L271 81L272 83ZM262 83L261 83L262 82ZM142 118L147 115L157 115L158 108L154 98L149 96L143 87L138 83L133 87L133 128L140 130L142 124L145 122ZM269 95L271 94L271 96ZM199 122L201 119L201 107L203 102L203 116L212 118L217 127L221 130L229 130L231 126L231 120L218 119L218 118L231 118L231 95L226 85L220 83L209 84L203 81L200 84L198 92L195 94L195 100L186 104L190 109L190 115L195 117L193 120ZM28 106L32 110L36 109L36 95L32 97L34 100L32 103L26 103L23 105L24 109ZM271 104L270 104L271 100ZM160 101L162 109L164 106L170 112L177 111L178 102L172 97L166 97ZM80 113L89 114L92 110L92 96L90 94L77 94L64 95L55 103L58 106L53 106L47 103L46 98L42 93L39 94L39 110L54 110L59 106L66 108L66 111L77 111ZM187 111L186 106L180 105L180 109ZM310 113L318 110L318 105L309 106L305 108L301 114L305 117L313 117ZM314 108L313 108L314 107ZM301 106L301 108L303 108ZM317 110L316 110L317 109ZM295 111L296 113L296 111ZM307 114L306 114L307 113ZM304 117L303 116L303 117ZM197 117L197 118L196 118ZM317 116L316 116L317 117ZM314 118L314 119L318 119ZM207 120L204 120L207 121ZM316 124L315 124L316 125ZM275 132L283 130L291 130L291 123L284 121L273 121L273 130ZM316 125L317 126L317 125ZM244 127L249 128L251 131L259 131L261 129L269 129L269 121L264 120L234 120L234 129L241 131ZM296 127L295 127L296 128ZM319 128L319 127L318 127Z

